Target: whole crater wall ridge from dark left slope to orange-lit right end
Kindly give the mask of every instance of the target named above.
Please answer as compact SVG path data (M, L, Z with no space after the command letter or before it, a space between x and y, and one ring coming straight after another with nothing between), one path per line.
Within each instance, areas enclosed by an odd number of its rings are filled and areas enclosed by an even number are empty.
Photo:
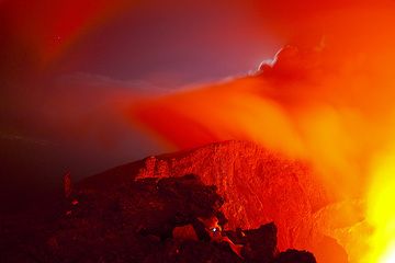
M78 188L105 196L133 181L190 173L216 185L225 197L225 229L252 229L274 221L280 250L309 250L320 263L348 262L348 243L339 242L343 240L336 231L347 232L363 218L354 218L348 203L334 204L309 163L252 142L224 141L149 157L88 178Z

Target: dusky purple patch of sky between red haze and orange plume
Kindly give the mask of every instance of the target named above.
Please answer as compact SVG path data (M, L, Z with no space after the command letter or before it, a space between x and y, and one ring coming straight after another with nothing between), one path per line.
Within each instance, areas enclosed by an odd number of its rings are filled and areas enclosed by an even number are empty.
M280 43L258 13L225 2L137 7L83 37L60 68L172 87L245 75ZM167 83L168 82L168 83Z

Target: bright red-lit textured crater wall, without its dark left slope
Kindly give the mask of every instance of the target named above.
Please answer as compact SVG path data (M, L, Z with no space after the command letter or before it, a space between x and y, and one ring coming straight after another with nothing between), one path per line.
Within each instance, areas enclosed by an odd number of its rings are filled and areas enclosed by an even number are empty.
M312 248L318 232L313 214L329 203L307 163L251 142L226 141L145 159L137 178L199 174L226 199L227 228L257 228L274 221L279 248Z

